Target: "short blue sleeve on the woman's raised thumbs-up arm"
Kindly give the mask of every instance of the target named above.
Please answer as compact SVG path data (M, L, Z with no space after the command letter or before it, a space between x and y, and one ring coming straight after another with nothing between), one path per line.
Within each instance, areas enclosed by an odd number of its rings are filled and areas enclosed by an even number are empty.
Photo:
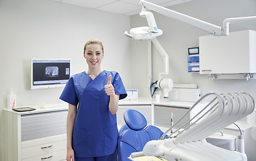
M116 95L120 95L119 99L124 99L127 97L126 89L124 88L124 83L122 82L122 78L118 74L118 72L116 72L113 86L114 86Z

